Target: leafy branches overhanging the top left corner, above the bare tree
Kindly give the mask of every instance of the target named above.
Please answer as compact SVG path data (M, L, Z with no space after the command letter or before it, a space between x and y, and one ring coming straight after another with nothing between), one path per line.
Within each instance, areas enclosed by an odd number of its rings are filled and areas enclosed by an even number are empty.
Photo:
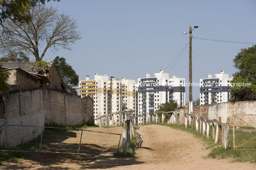
M39 3L44 4L45 1L46 0L0 0L0 24L8 18L20 22L29 20L29 17L25 15L26 12ZM50 0L47 0L47 2L49 1Z

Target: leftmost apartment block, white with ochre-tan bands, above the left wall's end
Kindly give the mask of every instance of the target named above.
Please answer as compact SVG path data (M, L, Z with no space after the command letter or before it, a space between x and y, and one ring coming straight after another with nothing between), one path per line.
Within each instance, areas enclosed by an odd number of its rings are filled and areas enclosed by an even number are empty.
M121 81L114 77L108 80L108 75L95 73L94 80L90 80L86 75L86 80L79 81L79 95L94 100L95 118L122 110Z

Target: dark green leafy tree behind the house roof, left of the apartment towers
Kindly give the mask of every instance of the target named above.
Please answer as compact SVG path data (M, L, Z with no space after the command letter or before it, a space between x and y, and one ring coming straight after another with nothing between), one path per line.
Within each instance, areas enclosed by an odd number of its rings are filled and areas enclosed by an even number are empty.
M57 67L58 72L61 75L62 80L66 82L69 85L77 86L79 83L79 77L75 73L75 70L72 69L72 67L66 63L66 59L63 57L55 57L53 60L54 64Z

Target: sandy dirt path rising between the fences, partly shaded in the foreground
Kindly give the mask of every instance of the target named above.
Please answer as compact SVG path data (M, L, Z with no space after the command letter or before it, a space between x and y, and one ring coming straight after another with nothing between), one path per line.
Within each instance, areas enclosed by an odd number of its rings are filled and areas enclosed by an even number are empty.
M91 130L121 133L121 127ZM3 165L0 169L256 170L256 164L247 162L204 159L209 150L203 149L203 143L187 132L160 125L141 126L137 132L141 135L141 147L134 158L29 153L25 160Z

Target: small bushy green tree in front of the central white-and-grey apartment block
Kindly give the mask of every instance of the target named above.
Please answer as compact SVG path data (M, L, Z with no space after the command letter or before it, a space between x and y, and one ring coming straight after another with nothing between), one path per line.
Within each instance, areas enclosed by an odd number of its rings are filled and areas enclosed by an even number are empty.
M170 102L165 102L165 103L162 103L160 104L159 106L159 110L157 111L173 111L175 109L178 108L178 103L175 101L175 100L170 100ZM167 121L171 118L171 113L167 113L167 114L164 114L165 115L165 120L164 121ZM162 114L158 114L158 117L162 118Z

